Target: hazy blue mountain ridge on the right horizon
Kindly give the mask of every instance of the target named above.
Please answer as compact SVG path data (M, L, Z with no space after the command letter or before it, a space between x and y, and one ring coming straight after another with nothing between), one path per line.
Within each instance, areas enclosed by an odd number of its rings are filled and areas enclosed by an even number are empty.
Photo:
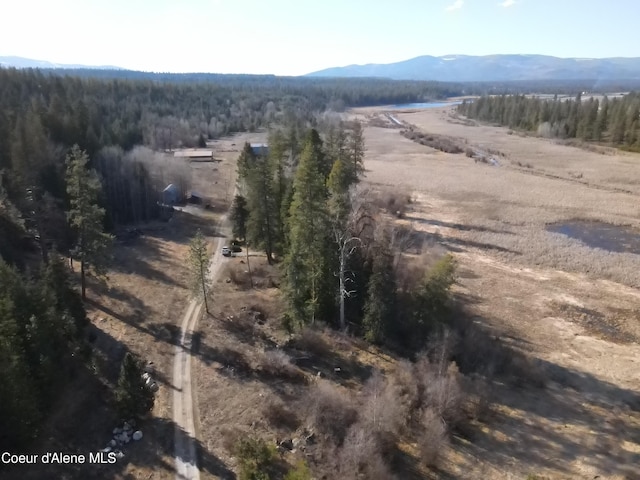
M310 77L386 77L397 80L485 82L640 79L640 58L558 58L545 55L424 55L396 63L349 65Z

